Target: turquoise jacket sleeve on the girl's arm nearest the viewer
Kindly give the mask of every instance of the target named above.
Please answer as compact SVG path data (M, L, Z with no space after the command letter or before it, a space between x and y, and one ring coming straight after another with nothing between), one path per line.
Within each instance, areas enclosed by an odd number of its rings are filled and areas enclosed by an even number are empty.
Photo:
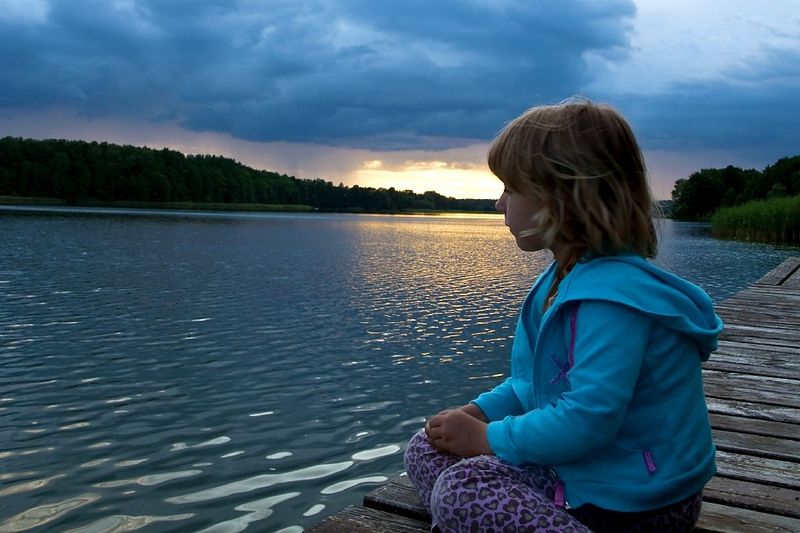
M570 390L553 404L491 422L492 451L514 464L555 466L611 442L633 396L650 327L648 317L626 306L583 301Z

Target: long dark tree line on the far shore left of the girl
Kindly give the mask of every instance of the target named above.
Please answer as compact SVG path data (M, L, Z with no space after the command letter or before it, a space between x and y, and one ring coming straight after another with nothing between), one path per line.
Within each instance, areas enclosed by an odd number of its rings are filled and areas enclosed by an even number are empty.
M233 159L106 142L0 139L0 195L90 202L308 205L325 211L493 211L494 200L334 185Z

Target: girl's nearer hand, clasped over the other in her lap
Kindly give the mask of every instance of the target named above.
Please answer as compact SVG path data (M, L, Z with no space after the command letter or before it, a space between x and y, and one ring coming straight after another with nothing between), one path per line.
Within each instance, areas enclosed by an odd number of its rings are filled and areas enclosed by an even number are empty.
M486 422L462 411L442 411L425 424L428 441L439 451L461 457L492 455L486 436Z

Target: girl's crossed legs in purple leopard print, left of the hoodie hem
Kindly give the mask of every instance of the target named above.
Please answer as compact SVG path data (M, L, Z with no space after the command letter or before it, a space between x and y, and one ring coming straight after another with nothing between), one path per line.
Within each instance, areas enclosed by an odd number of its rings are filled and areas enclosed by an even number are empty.
M442 453L424 432L409 442L405 467L433 524L443 531L589 532L555 505L555 484L546 468Z

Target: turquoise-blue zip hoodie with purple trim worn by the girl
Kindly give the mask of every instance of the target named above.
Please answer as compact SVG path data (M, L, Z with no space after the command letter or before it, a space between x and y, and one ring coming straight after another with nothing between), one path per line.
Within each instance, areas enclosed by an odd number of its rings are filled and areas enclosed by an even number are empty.
M639 512L716 472L700 363L722 321L696 285L636 255L579 262L542 316L555 264L522 306L511 377L474 403L492 451L549 466L572 507Z

